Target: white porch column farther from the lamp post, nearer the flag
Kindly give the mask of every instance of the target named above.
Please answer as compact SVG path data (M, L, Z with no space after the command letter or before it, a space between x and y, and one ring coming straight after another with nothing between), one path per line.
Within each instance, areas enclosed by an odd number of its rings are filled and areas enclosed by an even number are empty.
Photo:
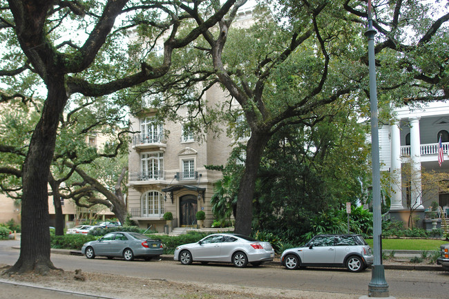
M411 167L411 204L412 209L424 209L421 192L421 138L419 136L419 119L421 117L410 118L410 157Z

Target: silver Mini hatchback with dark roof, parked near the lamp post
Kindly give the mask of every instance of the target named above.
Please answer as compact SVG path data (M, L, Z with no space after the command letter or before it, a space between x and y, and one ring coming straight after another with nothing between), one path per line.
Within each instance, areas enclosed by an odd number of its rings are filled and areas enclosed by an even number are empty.
M313 266L359 272L374 262L374 256L361 235L316 235L304 247L285 250L280 262L289 270Z

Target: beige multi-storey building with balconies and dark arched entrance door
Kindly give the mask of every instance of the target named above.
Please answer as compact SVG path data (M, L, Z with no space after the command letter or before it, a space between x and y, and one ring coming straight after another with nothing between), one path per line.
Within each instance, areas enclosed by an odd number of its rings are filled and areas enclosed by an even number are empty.
M205 94L209 105L224 100L225 93L213 86ZM185 112L180 112L185 113ZM165 212L173 213L173 227L196 226L195 214L204 211L204 226L211 226L213 183L220 171L205 165L225 165L232 139L214 133L195 140L182 123L157 124L155 110L146 109L140 118L131 119L133 134L128 157L128 211L142 228L164 231ZM168 134L169 132L169 134Z

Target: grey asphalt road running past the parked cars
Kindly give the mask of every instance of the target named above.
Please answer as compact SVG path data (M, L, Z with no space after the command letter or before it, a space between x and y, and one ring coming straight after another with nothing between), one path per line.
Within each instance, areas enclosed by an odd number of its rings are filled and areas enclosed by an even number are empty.
M13 264L19 250L12 249L12 242L0 242L0 262ZM329 291L367 295L371 270L350 273L345 269L312 269L287 271L276 264L262 267L236 269L230 264L192 264L184 266L171 260L149 261L107 260L84 256L52 254L55 267L66 270L82 269L90 272L120 273L153 279L233 284L245 287L270 287L278 289L300 289L307 291ZM449 273L443 271L385 270L385 280L390 296L396 298L449 298Z

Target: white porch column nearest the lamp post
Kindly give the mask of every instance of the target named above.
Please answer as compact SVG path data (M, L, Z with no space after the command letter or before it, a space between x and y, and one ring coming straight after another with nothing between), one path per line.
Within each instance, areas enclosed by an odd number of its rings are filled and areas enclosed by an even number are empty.
M394 122L391 128L391 206L390 210L403 210L402 205L402 173L401 173L401 132L399 122Z

